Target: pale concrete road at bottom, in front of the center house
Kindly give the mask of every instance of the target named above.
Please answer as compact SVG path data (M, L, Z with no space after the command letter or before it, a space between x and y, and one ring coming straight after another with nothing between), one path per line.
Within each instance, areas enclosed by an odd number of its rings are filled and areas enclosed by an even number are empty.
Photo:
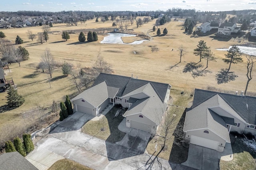
M81 125L80 121L71 120ZM169 163L161 158L158 158L160 163L156 160L154 164L145 166L151 155L108 143L69 127L70 123L67 122L58 125L54 131L38 141L37 150L26 158L40 170L48 169L54 162L62 158L74 160L95 170L133 170L150 169L150 167L154 170L192 169L184 165Z

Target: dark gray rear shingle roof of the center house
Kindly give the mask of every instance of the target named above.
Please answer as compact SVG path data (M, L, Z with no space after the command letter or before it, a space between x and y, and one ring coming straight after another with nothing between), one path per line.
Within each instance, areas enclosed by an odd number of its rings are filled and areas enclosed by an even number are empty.
M136 78L106 73L100 73L100 75L96 78L93 86L104 81L106 81L107 86L119 88L118 94L116 95L118 97L124 96L144 86L145 84L150 83L162 102L164 102L164 98L169 86L169 84L165 83L151 82L147 80L140 80Z

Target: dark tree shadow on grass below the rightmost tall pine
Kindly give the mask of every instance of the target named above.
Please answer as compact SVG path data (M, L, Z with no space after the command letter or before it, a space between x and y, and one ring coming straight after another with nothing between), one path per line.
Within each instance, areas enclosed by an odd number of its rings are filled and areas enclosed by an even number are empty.
M228 72L228 69L222 68L218 74L216 74L217 84L227 83L236 80L238 76L234 72Z

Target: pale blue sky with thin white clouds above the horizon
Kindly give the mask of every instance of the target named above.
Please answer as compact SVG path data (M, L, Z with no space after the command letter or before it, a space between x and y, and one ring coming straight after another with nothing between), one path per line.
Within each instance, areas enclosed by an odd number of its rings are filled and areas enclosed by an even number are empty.
M0 11L166 11L170 8L200 11L256 9L256 0L1 0Z

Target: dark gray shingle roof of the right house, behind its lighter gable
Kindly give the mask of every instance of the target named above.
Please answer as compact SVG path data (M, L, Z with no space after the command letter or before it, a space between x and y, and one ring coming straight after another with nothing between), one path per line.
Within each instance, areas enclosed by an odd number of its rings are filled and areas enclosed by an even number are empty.
M216 94L218 94L246 122L256 125L256 97L252 96L240 96L195 89L193 105L189 109L193 109ZM248 110L246 104L248 104Z

